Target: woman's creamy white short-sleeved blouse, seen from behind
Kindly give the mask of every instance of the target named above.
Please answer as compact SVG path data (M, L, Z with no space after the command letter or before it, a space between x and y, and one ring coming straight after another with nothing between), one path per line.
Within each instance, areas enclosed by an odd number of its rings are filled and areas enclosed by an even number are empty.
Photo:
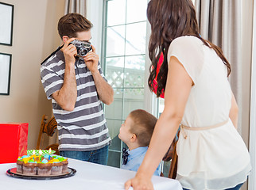
M208 130L183 129L176 149L177 180L183 188L194 190L223 190L241 184L250 173L250 156L229 119L232 93L227 67L195 36L173 40L168 60L171 56L180 61L195 84L181 124L204 129L227 121Z

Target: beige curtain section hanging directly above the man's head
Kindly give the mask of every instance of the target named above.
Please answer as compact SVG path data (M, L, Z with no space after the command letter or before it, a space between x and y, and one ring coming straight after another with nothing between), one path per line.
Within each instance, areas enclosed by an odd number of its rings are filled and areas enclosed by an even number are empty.
M80 13L86 17L86 0L66 0L64 14Z

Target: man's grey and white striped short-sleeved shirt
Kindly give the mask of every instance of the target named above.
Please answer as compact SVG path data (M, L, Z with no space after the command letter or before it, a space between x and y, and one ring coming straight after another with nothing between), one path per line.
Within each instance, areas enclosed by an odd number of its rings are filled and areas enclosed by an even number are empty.
M100 74L106 80L98 65ZM91 71L83 59L75 63L77 99L72 112L62 109L52 98L52 93L64 83L64 55L57 51L41 65L41 82L48 99L52 99L52 111L59 130L59 150L89 151L110 144L102 102L99 100ZM107 81L107 80L106 80Z

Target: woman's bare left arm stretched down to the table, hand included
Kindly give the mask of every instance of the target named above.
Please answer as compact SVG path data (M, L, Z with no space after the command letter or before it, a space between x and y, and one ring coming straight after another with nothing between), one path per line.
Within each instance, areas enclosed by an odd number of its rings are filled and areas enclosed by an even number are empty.
M142 165L136 176L126 181L125 188L130 186L136 189L153 189L151 177L164 157L180 121L184 115L184 108L192 87L192 78L175 57L171 57L165 88L165 109L157 121L153 136L149 144L149 150L145 154Z

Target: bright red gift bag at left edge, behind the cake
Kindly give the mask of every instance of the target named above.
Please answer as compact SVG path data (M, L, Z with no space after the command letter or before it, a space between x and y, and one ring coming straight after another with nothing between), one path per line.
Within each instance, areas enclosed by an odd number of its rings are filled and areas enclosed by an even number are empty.
M0 164L16 162L25 155L29 124L0 124Z

